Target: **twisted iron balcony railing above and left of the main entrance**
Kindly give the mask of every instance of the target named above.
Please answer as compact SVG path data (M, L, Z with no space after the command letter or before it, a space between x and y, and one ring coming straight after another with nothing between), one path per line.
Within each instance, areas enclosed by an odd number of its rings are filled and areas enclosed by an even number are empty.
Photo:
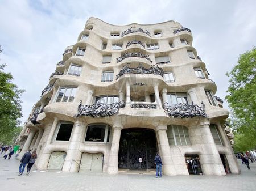
M118 113L119 108L125 107L125 101L119 101L119 103L104 104L96 103L93 105L82 105L79 104L78 113L76 117L80 116L91 116L91 117L109 117L113 114Z

